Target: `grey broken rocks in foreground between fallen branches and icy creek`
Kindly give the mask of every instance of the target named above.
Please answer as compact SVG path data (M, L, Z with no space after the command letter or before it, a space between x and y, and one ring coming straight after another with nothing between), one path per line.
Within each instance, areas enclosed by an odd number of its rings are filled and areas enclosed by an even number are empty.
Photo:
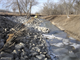
M34 32L34 33L32 33ZM35 31L21 32L24 36L17 36L3 46L1 59L6 60L51 60L41 33Z

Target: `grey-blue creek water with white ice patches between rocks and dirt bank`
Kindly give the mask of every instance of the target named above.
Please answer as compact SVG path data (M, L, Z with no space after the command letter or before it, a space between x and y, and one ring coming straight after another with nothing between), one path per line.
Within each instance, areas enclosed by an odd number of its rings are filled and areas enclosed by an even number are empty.
M43 34L48 45L49 52L53 53L58 59L55 60L80 60L80 42L72 37L67 37L67 33L61 31L50 21L42 20L40 26L50 29L48 34ZM53 59L53 60L54 60Z

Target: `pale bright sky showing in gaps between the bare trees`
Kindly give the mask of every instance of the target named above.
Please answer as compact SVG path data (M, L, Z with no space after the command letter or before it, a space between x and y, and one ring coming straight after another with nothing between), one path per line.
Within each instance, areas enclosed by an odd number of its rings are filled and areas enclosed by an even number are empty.
M39 4L37 4L36 6L33 6L32 13L40 11L40 9L43 6L43 3L47 2L47 0L37 0L37 1L39 2ZM51 1L58 2L58 0L51 0ZM5 9L5 7L2 4L0 4L0 9L8 10L8 9Z

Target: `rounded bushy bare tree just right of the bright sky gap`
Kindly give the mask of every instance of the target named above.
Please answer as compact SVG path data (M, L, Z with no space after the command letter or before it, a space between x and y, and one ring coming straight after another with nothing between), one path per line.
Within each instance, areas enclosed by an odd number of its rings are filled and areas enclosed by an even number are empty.
M43 9L41 9L42 14L46 15L61 15L64 12L64 8L62 4L54 3L52 1L47 1L43 5Z

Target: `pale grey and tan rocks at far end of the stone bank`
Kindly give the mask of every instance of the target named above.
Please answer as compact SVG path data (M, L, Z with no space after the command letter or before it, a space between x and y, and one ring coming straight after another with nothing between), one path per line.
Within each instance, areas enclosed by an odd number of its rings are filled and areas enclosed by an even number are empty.
M7 19L17 22L17 23L23 23L25 24L27 27L29 28L34 28L35 30L38 30L42 33L48 33L50 30L46 27L41 27L42 24L42 20L39 19L35 19L35 18L30 18L27 19L26 16L22 17L22 16L12 16L12 17L6 17Z

